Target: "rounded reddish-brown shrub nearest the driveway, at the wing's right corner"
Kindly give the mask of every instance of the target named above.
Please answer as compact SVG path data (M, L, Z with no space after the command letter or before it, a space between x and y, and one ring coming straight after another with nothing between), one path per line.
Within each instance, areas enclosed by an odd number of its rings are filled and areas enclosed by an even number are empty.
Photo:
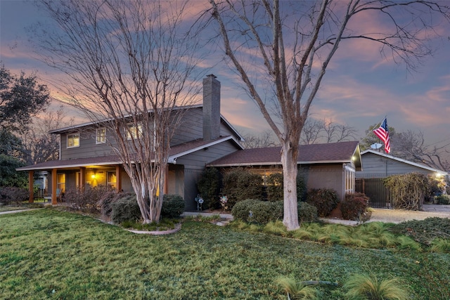
M345 195L340 210L345 220L368 221L371 219L371 211L368 210L369 198L363 193Z

